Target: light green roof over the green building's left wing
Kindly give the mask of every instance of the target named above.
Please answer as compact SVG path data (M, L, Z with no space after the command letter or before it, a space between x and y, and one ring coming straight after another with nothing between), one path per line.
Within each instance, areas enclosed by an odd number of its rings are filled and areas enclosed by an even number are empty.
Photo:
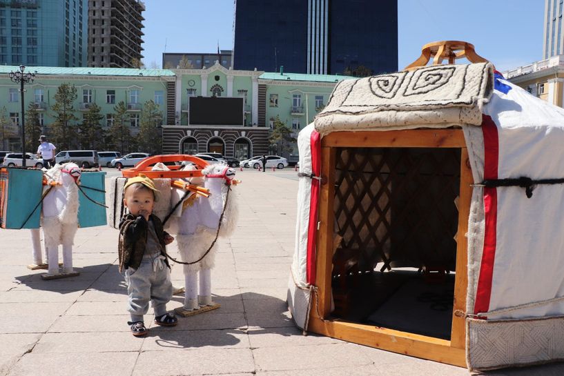
M19 66L0 66L0 74L19 70ZM66 68L66 67L26 67L24 73L37 75L90 75L90 76L130 76L161 77L174 76L168 69L135 69L135 68Z

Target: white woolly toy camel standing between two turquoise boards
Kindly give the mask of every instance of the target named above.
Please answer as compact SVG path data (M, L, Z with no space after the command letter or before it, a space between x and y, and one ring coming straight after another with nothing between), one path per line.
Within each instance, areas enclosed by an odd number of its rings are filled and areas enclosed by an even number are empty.
M81 170L77 164L56 164L46 171L50 192L43 199L42 223L47 261L48 277L78 275L72 268L72 243L78 228L79 188L77 179ZM63 246L63 273L59 273L59 244Z

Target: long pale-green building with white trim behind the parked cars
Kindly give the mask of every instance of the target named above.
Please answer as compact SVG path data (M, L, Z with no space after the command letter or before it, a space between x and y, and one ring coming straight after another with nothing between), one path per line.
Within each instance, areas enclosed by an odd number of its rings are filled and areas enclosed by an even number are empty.
M17 69L0 66L0 117L5 112L19 126L19 85L8 77ZM162 139L155 142L162 142L164 153L214 151L238 159L277 152L269 143L275 119L278 117L297 136L327 103L336 83L351 78L231 70L219 63L204 69L28 67L26 72L36 75L35 81L25 87L26 108L28 103L35 103L47 135L54 121L52 106L57 88L61 83L70 83L77 88L72 111L78 122L96 103L107 130L114 120L116 104L124 101L130 131L135 135L142 120L142 106L152 100L162 111ZM1 148L19 150L18 137L0 140L4 142ZM289 161L298 160L295 147L280 154Z

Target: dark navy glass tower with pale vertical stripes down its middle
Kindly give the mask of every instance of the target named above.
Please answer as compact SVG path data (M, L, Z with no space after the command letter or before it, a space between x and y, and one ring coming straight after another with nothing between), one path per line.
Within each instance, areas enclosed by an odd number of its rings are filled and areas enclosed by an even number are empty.
M237 70L398 69L397 0L235 0L234 32Z

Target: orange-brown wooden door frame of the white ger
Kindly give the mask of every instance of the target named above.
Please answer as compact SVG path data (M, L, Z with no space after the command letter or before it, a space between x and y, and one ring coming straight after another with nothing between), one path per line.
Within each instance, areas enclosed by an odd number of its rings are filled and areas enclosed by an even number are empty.
M461 129L390 130L373 132L333 132L322 138L322 185L319 204L315 286L309 314L309 330L383 350L431 359L436 362L466 366L465 312L467 292L468 216L472 175L468 152ZM460 148L460 199L458 202L458 238L456 279L451 339L438 339L376 326L356 324L341 319L326 319L331 310L331 260L333 256L333 201L336 148Z

